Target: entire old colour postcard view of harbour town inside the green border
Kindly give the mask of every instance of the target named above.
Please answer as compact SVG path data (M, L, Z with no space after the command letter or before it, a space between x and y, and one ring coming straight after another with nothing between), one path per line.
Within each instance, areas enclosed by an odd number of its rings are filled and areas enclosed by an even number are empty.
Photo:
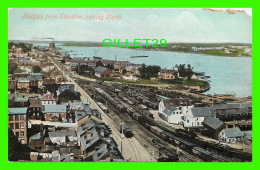
M244 9L16 8L8 27L9 161L252 161Z

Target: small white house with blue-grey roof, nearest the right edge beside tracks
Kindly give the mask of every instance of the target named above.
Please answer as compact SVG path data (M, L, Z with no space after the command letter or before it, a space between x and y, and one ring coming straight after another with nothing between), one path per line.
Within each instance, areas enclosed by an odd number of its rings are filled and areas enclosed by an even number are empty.
M244 133L238 128L223 129L219 133L219 140L222 142L236 143L244 139Z

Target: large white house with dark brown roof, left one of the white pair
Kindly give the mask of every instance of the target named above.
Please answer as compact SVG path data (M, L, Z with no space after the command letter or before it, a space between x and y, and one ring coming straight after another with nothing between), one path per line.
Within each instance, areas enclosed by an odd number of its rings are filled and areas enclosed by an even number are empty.
M159 103L159 116L169 123L180 124L185 114L193 107L189 99L163 99Z

